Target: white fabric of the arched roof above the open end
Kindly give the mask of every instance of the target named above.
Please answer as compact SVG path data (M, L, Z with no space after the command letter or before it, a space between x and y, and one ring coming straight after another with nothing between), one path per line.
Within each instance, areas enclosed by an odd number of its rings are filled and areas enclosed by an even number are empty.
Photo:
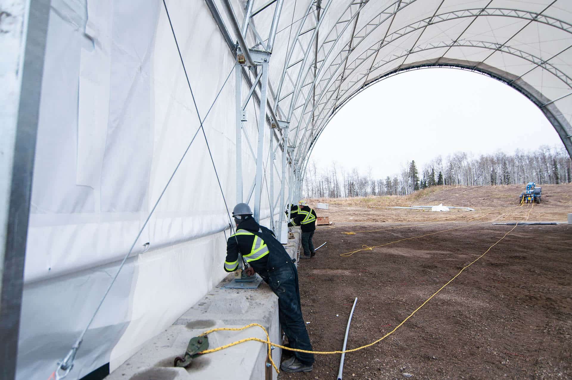
M246 3L235 3L235 12ZM254 2L251 22L261 35L271 24L272 3ZM403 70L439 66L474 70L517 89L572 154L569 0L286 0L277 30L273 108L291 121L289 145L302 169L353 95ZM261 48L253 31L248 37Z

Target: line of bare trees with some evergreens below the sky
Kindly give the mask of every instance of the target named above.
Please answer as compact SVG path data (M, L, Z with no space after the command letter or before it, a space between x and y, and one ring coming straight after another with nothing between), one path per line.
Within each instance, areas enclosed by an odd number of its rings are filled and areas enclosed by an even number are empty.
M374 179L371 168L362 174L357 168L345 169L332 162L319 168L312 161L304 177L305 197L353 197L369 195L406 195L434 185L509 185L534 181L542 184L572 182L572 160L564 147L540 147L534 152L517 149L514 155L496 152L472 157L456 152L445 159L437 156L418 170L415 161L400 173L384 179Z

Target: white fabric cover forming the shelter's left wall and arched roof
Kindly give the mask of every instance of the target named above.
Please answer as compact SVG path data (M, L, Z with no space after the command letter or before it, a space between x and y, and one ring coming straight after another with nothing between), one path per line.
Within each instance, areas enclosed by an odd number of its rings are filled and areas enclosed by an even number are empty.
M204 126L232 207L235 58L204 1L166 3L201 118L224 85ZM235 38L221 2L215 3ZM245 1L231 3L241 21ZM265 3L255 0L253 9ZM476 69L521 90L572 152L569 1L321 0L319 20L315 3L284 2L269 65L270 101L281 120L290 121L288 145L302 170L329 118L353 94L399 70L442 64ZM252 18L259 34L268 35L274 7ZM249 46L255 38L249 31ZM41 85L18 354L22 380L47 378L72 346L199 126L158 0L52 0ZM243 97L247 92L243 82ZM243 135L246 199L256 169L249 145L255 150L257 112L251 100ZM272 157L265 162L261 217L268 218L274 165ZM276 196L277 172L274 184ZM216 284L224 275L227 224L200 132L70 377L108 362L113 370ZM141 253L145 243L150 249Z

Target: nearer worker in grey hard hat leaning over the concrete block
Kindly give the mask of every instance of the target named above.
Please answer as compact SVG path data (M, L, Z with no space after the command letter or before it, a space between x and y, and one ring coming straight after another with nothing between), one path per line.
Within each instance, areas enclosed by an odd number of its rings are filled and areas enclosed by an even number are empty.
M224 270L235 271L241 254L249 265L246 273L249 276L255 272L259 274L278 296L280 325L288 337L289 346L311 351L312 345L300 305L298 271L292 259L276 240L274 233L256 223L248 204L237 204L232 216L235 218L236 233L227 240ZM313 362L313 354L294 352L294 356L285 360L280 369L285 372L309 372L313 369Z

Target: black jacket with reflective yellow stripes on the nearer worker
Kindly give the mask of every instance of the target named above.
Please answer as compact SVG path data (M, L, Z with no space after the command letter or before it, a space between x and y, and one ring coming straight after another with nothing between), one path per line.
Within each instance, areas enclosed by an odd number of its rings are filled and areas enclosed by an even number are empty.
M224 270L227 272L235 271L238 266L239 252L243 257L248 255L252 251L253 243L255 242L255 237L257 237L257 242L260 244L260 240L263 240L268 248L268 254L260 257L259 259L248 262L248 264L255 270L256 273L260 274L263 279L268 278L269 272L283 266L284 264L291 264L292 260L288 256L286 250L276 240L274 233L254 220L254 218L249 217L248 219L242 221L237 229L237 235L231 235L227 240L227 259L225 260ZM252 235L241 235L239 230L245 230ZM265 248L261 247L264 251ZM248 260L247 257L244 257ZM236 266L234 264L236 263ZM233 268L234 266L234 268Z

